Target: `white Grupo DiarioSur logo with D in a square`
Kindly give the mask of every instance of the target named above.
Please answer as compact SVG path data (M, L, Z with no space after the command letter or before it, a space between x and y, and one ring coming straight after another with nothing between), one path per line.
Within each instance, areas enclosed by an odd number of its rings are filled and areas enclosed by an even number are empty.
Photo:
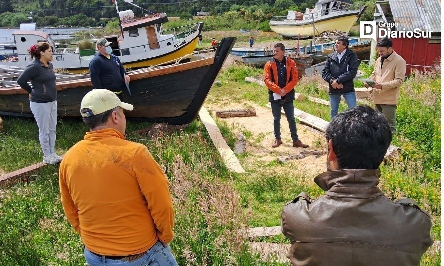
M361 38L372 38L378 41L378 38L430 38L432 31L424 31L419 28L414 30L391 30L392 28L398 28L397 22L383 22L383 21L361 21L360 23L360 35Z

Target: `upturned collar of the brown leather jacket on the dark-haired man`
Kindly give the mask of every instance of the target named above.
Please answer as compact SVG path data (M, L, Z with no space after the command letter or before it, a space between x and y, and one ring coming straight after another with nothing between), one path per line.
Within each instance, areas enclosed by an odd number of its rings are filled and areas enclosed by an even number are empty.
M314 178L314 182L325 195L344 198L374 198L383 195L377 187L379 170L343 169L324 172Z

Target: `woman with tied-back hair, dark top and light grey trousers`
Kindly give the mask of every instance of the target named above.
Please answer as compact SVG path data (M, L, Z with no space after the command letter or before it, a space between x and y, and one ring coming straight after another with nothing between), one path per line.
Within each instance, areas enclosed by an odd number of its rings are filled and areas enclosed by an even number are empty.
M57 89L54 67L50 63L53 48L47 42L38 42L28 49L31 60L17 83L29 93L31 111L38 125L38 137L43 150L43 163L55 164L62 160L55 153L57 126ZM31 81L29 86L28 81Z

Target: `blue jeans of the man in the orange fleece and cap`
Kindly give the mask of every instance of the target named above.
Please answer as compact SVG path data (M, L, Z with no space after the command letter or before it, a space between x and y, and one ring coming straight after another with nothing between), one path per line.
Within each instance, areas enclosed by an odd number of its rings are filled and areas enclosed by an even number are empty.
M177 266L176 259L170 250L170 245L164 247L160 241L156 242L146 254L134 261L106 259L105 256L97 256L90 252L86 247L83 251L85 260L89 266Z

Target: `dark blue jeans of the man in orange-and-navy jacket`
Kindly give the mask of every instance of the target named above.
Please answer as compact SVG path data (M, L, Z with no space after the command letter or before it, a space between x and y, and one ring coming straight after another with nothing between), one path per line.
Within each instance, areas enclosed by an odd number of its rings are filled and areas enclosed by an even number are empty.
M294 121L294 106L293 101L284 102L283 100L271 101L271 112L274 118L274 137L280 139L280 117L281 110L284 108L285 116L287 117L288 126L290 127L291 139L298 141L299 137L296 130L296 121Z

